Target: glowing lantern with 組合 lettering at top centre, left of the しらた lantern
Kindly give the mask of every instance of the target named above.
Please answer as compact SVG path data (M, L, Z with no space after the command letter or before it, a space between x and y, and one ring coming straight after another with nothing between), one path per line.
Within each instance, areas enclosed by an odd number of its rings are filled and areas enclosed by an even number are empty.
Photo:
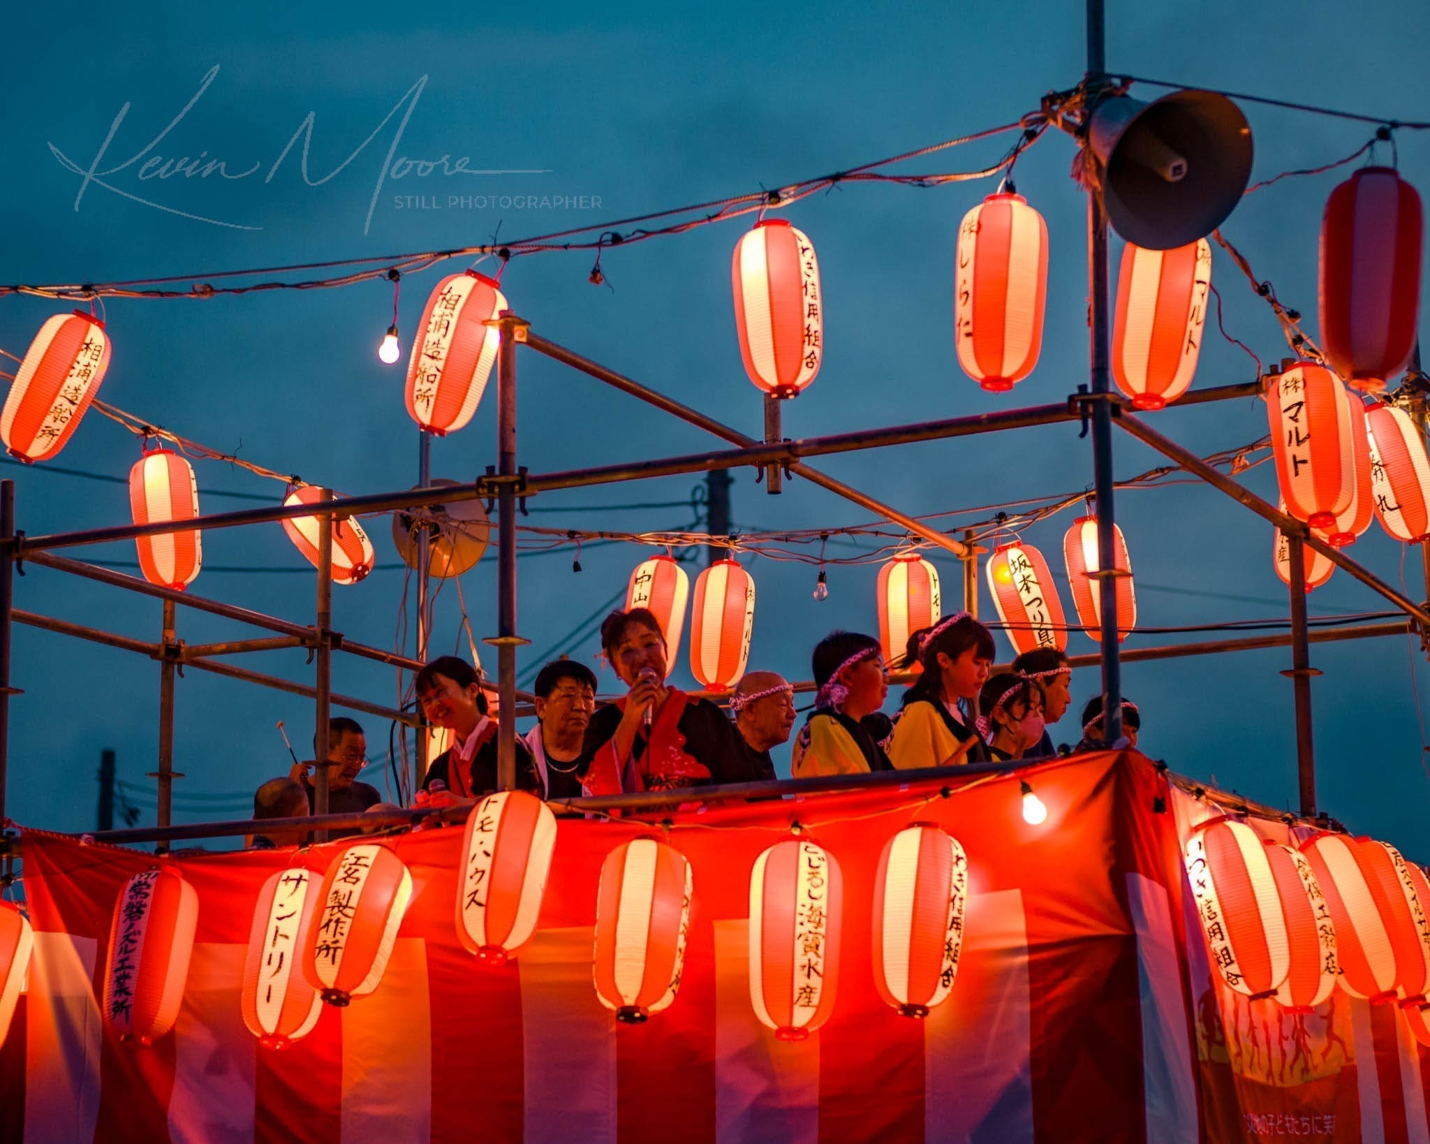
M814 243L785 219L764 219L735 245L731 280L749 380L775 398L798 396L824 358Z

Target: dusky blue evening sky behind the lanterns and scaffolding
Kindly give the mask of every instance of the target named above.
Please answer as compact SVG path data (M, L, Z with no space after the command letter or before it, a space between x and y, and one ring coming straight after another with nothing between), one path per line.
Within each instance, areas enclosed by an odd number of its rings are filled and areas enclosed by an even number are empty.
M1198 6L1114 0L1108 63L1133 74L1323 103L1400 119L1430 119L1423 46L1424 6L1317 0L1286 9L1213 0ZM74 26L39 9L11 14L10 96L0 109L7 177L0 212L7 242L0 280L92 282L194 275L329 257L378 256L503 239L596 223L645 210L778 186L909 150L1015 119L1052 87L1083 72L1083 6L1077 3L726 4L546 3L525 11L350 3L202 11L150 4L136 16L94 7ZM217 67L192 110L149 156L222 159L243 179L149 179L143 159L90 184L53 149L89 167L120 107L102 169L139 153ZM422 77L413 106L389 112ZM1153 89L1140 89L1150 97ZM1317 166L1364 142L1369 124L1244 104L1256 136L1254 179ZM546 174L450 176L378 182L399 122L393 157L469 156L473 169L541 169ZM307 176L302 143L272 172L303 119L313 113ZM380 126L379 129L379 124ZM375 133L375 134L373 134ZM359 146L372 134L365 149ZM908 166L917 172L978 167L1004 139ZM1430 190L1430 139L1401 132L1400 167ZM356 154L355 154L356 152ZM144 156L144 157L149 157ZM788 216L815 242L827 296L827 352L814 388L786 408L785 432L809 436L982 409L1058 400L1085 380L1084 200L1068 179L1071 143L1050 133L1018 164L1018 187L1042 212L1051 237L1048 313L1038 369L1012 395L984 395L958 369L951 337L951 260L957 223L991 184L915 190L845 186L797 204ZM1248 199L1226 233L1308 316L1314 332L1316 243L1324 196L1343 173L1286 180ZM376 197L375 197L375 190ZM139 196L156 206L132 199ZM599 209L502 213L462 209L449 196L598 196ZM399 206L426 196L438 209ZM370 210L370 217L369 217ZM214 222L183 217L203 216ZM545 336L688 403L758 433L761 406L744 376L731 320L729 253L746 222L608 253L613 289L586 282L583 253L518 259L503 286L512 306ZM242 227L242 229L240 229ZM1114 240L1114 259L1121 243ZM466 263L456 263L460 269ZM1114 262L1115 272L1115 262ZM442 272L403 280L405 349L426 293ZM1270 312L1217 250L1214 283L1230 332L1263 359L1284 353ZM343 492L403 488L416 479L416 430L402 406L402 368L383 366L375 346L388 325L390 289L259 293L207 302L110 300L113 362L102 396L176 432L296 472ZM63 309L7 297L0 346L21 353L46 316ZM406 360L403 358L403 360ZM1197 385L1250 380L1241 350L1210 335ZM495 396L495 385L493 385ZM1258 400L1173 409L1155 425L1198 453L1266 433ZM711 448L709 438L596 382L535 355L521 360L521 463L532 472ZM495 462L495 402L472 425L438 442L433 473L470 479ZM1131 476L1158 458L1118 435L1117 473ZM124 476L137 445L90 413L56 462ZM1091 450L1075 426L1052 426L899 452L822 462L828 472L912 512L1001 503L1075 492L1091 479ZM123 485L4 468L17 482L17 512L30 533L129 519ZM736 473L734 518L742 531L859 523L868 513L794 480L766 496L752 472ZM1248 486L1274 496L1261 466ZM582 512L583 506L688 500L698 478L553 493L569 513L532 516L542 525L686 528L688 508ZM242 508L219 490L272 495L282 489L213 462L199 465L204 511ZM535 502L533 502L535 503ZM1148 625L1256 619L1286 613L1271 569L1270 529L1211 489L1185 485L1118 499ZM1068 515L1030 529L1057 566ZM393 565L386 521L372 522L379 565ZM848 555L851 549L838 549ZM72 552L133 561L132 545ZM495 555L495 553L493 553ZM831 546L831 555L835 548ZM1401 548L1379 526L1353 555L1397 582ZM539 651L559 645L625 583L641 552L611 545L521 562L519 629ZM945 593L957 599L957 563L932 556ZM197 593L305 622L313 578L277 525L204 536ZM260 566L263 573L223 572ZM751 665L807 678L814 642L835 626L874 629L875 566L831 568L829 599L811 599L814 569L755 559L758 585ZM694 569L692 569L694 572ZM1419 598L1419 553L1404 559ZM495 561L463 579L473 628L495 632ZM991 612L987 589L982 609ZM335 625L355 639L392 645L403 596L400 571L378 571L335 589ZM1065 601L1070 603L1070 601ZM116 589L30 568L16 605L146 639L159 633L160 605ZM438 601L435 646L459 639L456 592ZM1310 598L1313 615L1379 611L1379 598L1344 573ZM180 609L190 642L250 632ZM1198 638L1198 636L1193 636ZM1130 646L1160 642L1133 636ZM595 639L562 646L592 662ZM1070 651L1093 645L1074 633ZM1419 658L1419 656L1417 656ZM486 656L495 669L495 655ZM245 665L310 679L297 652L245 656ZM519 661L523 678L528 669ZM1144 746L1175 769L1274 805L1296 798L1291 686L1278 671L1284 651L1131 665L1125 691L1143 709ZM1321 805L1358 831L1426 851L1430 781L1404 641L1313 648L1326 672L1314 685ZM1419 659L1421 676L1430 666ZM10 805L21 822L92 828L100 749L119 752L120 778L144 784L157 744L154 664L126 652L34 629L14 635ZM691 684L684 661L676 681ZM605 676L609 688L612 678ZM393 674L339 656L333 686L380 702ZM1097 689L1095 672L1074 679L1074 714ZM285 719L295 742L310 735L312 706L296 696L190 672L180 681L174 765L189 778L177 821L197 819L200 794L250 791L285 769L273 728ZM363 716L373 758L388 728ZM1072 716L1058 738L1075 739ZM788 766L784 752L778 759ZM380 778L375 778L380 785ZM152 804L152 792L136 795ZM233 805L230 805L233 804ZM233 799L210 805L239 809ZM152 821L152 811L144 811Z

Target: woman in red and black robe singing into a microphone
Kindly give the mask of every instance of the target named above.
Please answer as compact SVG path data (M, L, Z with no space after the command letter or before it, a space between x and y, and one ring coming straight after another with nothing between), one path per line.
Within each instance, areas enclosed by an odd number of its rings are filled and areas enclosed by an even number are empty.
M759 776L735 742L734 724L709 699L665 684L665 636L645 608L612 612L601 646L631 688L591 718L578 774L589 795L669 791Z

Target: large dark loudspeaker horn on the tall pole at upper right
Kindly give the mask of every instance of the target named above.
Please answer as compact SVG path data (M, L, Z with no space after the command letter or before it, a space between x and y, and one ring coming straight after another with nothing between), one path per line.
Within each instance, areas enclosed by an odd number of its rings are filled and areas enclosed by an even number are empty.
M1213 92L1173 92L1154 103L1105 99L1093 112L1088 143L1103 163L1108 222L1148 250L1216 230L1251 177L1246 116Z

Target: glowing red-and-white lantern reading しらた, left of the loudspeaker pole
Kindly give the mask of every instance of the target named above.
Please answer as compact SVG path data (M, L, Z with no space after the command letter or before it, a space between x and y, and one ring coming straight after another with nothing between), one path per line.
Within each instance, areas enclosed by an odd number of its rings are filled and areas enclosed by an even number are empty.
M1027 378L1042 347L1048 226L1021 194L990 194L958 227L954 343L964 373L990 392Z

